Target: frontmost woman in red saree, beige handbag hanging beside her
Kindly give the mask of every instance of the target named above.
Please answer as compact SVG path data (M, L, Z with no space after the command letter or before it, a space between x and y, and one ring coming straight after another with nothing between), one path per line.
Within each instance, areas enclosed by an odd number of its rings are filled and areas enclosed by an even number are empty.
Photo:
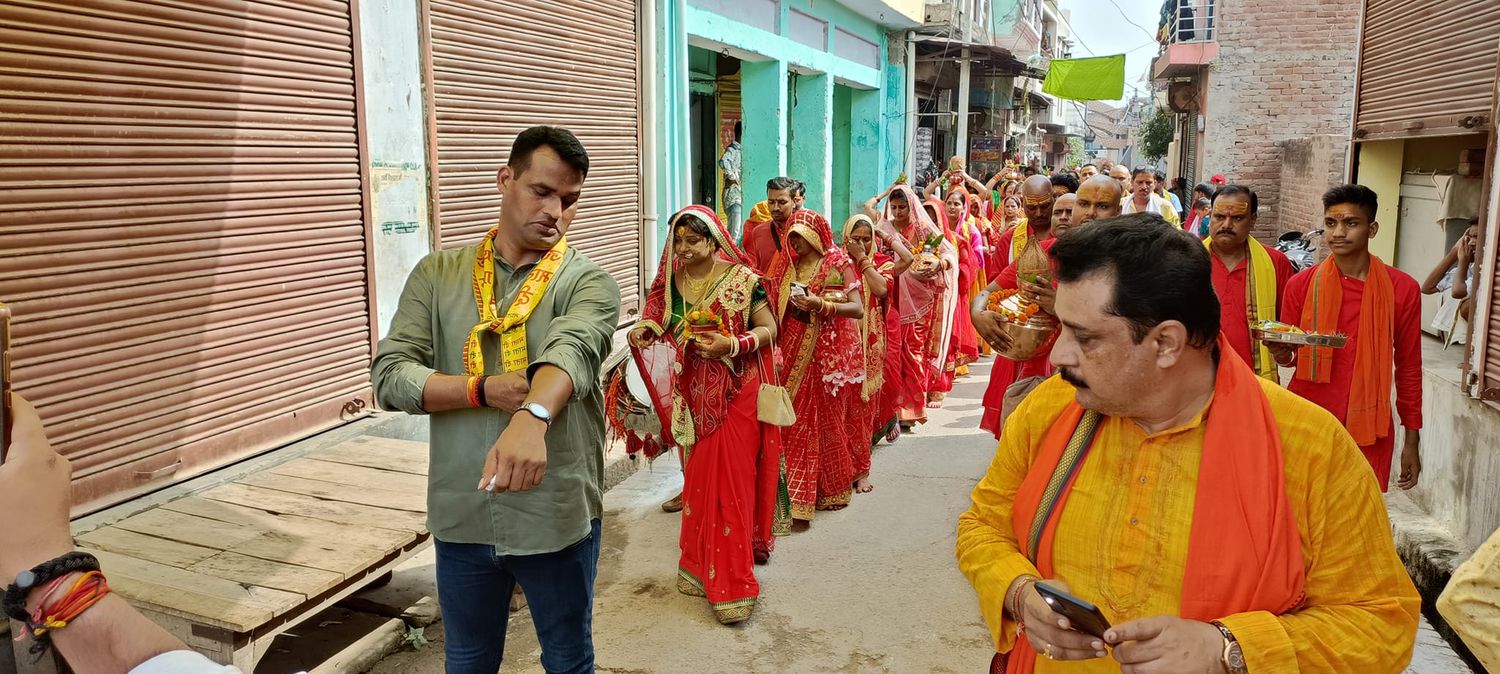
M756 414L760 381L771 380L776 318L714 212L688 206L670 231L628 342L664 440L682 450L676 588L708 597L729 624L754 609L754 563L770 557L776 530L780 429Z

